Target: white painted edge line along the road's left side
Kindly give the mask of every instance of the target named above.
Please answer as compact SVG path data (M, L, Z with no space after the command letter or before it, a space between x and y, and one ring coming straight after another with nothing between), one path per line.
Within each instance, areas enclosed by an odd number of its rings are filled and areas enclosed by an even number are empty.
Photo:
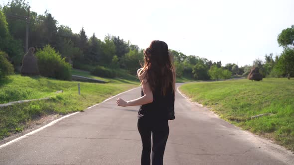
M140 87L140 86L139 86L139 87ZM107 98L106 100L104 100L104 101L102 101L102 102L100 102L100 103L98 103L98 104L95 104L95 105L93 105L93 106L90 106L90 107L88 107L87 109L93 108L94 106L97 106L97 105L99 105L99 104L101 104L101 103L103 103L103 102L106 102L106 101L108 101L108 100L110 100L110 99L112 99L112 98L114 98L114 97L116 97L116 96L118 96L118 95L121 95L121 94L124 94L124 93L126 93L126 92L129 92L129 91L135 90L135 89L137 89L137 88L139 88L139 87L135 87L135 88L132 88L132 89L130 89L130 90L127 90L127 91L121 92L121 93L119 93L119 94L117 94L117 95L115 95L115 96L112 96L112 97L110 97L110 98ZM12 143L14 143L14 142L17 142L17 141L19 141L19 140L21 140L21 139L23 139L23 138L26 138L27 136L33 135L33 134L35 134L35 133L37 133L37 132L39 132L39 131L41 131L41 130L43 130L43 129L49 127L49 126L52 126L52 125L54 125L55 123L57 123L58 121L60 121L60 120L62 120L62 119L64 119L64 118L67 118L67 117L69 117L69 116L72 116L72 115L75 115L75 114L78 114L78 113L80 113L80 112L74 112L74 113L68 114L68 115L66 115L66 116L60 117L60 118L58 118L58 119L56 119L56 120L53 120L53 121L51 121L50 123L44 125L44 126L41 127L41 128L38 128L38 129L36 129L36 130L34 130L34 131L31 131L31 132L29 132L29 133L27 133L27 134L25 134L25 135L22 135L22 136L18 137L18 138L16 138L16 139L13 139L13 140L11 140L11 141L5 143L5 144L0 145L0 149L3 148L3 147L5 147L5 146L8 146L8 145L10 145L10 144L12 144Z

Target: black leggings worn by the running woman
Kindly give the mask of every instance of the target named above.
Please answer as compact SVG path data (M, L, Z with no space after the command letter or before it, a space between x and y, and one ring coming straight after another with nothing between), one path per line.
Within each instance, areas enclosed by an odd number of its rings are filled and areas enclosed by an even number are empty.
M143 117L138 120L138 130L143 143L141 165L150 165L151 132L152 165L163 165L163 154L169 133L168 120L152 121Z

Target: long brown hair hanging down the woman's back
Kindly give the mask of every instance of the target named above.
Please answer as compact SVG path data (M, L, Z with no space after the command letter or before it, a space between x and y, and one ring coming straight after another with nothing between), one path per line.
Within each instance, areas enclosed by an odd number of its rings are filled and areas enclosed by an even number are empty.
M155 91L155 85L160 83L160 93L165 95L170 85L173 93L175 93L174 66L167 44L163 41L152 41L150 46L144 51L144 56L144 66L142 66L143 69L139 75L141 76L145 73L143 80L147 80L151 90Z

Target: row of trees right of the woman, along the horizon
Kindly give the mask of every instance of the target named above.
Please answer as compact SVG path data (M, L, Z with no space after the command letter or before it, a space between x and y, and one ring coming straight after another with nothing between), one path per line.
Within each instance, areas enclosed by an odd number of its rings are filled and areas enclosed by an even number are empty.
M270 78L294 77L294 25L282 30L278 35L278 43L284 48L282 54L274 57L273 53L265 55L265 60L256 59L252 65L239 67L237 64L212 62L197 56L186 56L177 51L171 51L175 56L177 76L191 76L198 80L228 79L225 75L247 76L253 67L258 67L262 76Z

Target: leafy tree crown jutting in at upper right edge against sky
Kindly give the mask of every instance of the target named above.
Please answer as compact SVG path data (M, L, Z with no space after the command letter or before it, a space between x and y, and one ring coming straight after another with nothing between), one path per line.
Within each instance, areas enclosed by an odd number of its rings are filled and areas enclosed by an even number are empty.
M294 46L294 25L292 25L291 28L282 30L282 32L278 35L278 43L284 48L289 45Z

